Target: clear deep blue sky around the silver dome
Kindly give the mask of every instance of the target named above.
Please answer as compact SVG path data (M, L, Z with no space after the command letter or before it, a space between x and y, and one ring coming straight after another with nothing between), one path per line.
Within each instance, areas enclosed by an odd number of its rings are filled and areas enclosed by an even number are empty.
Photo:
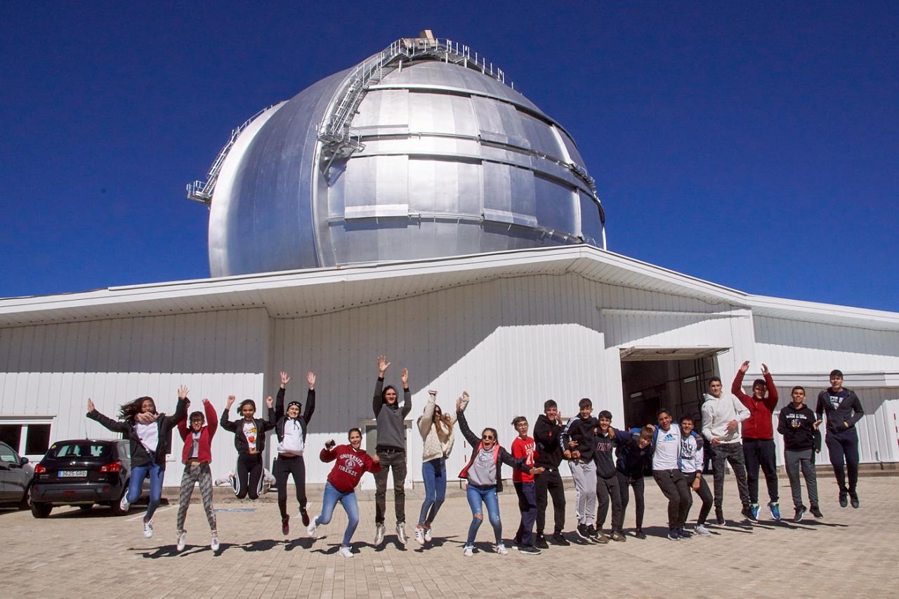
M209 275L230 130L423 28L561 122L609 248L899 311L899 4L3 3L0 296Z

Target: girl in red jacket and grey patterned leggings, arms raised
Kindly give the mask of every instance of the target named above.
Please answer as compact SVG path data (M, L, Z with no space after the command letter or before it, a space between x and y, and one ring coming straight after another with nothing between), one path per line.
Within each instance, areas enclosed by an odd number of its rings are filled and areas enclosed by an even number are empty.
M190 406L191 402L187 402ZM218 416L216 408L212 407L209 399L203 399L203 411L191 412L191 428L187 427L187 419L178 421L178 433L184 442L181 460L184 464L184 473L181 475L181 492L178 496L178 521L176 531L178 535L178 550L184 550L187 544L187 531L184 530L184 518L187 517L187 508L191 505L193 486L200 483L200 496L203 498L203 509L206 510L206 520L209 522L209 532L212 533L212 541L209 547L218 551L218 530L216 529L216 513L212 508L212 471L209 462L212 461L212 437L218 429ZM209 420L209 425L206 425Z

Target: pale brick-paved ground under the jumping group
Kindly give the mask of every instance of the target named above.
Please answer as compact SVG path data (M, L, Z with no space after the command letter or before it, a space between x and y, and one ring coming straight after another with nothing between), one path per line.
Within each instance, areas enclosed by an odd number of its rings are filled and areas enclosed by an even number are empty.
M627 542L606 546L550 547L539 556L494 554L485 523L480 550L464 558L460 548L471 513L458 489L436 523L434 547L425 550L414 541L403 550L391 535L384 547L372 547L374 503L370 496L361 497L352 559L336 554L346 523L340 507L334 521L320 529L319 539L296 530L286 541L271 501L218 501L226 510L218 513L218 554L205 545L209 534L200 505L191 505L188 547L180 554L174 547L174 505L160 507L156 535L148 540L141 532L139 506L118 518L108 517L103 508L89 513L57 508L47 520L3 511L0 596L895 596L899 478L862 478L859 510L837 505L834 484L820 480L822 521L750 525L731 520L713 528L711 538L677 542L661 536L663 496L651 479L646 483L649 539L628 536ZM781 479L781 487L788 496L786 480ZM725 514L735 518L733 478L727 492ZM574 492L568 496L571 522ZM792 513L789 503L782 502L785 514ZM319 505L316 492L310 513ZM407 492L408 513L417 514L419 505L418 491ZM254 511L227 511L236 508ZM391 513L392 504L387 508ZM503 494L501 511L508 539L518 523L514 493ZM633 517L630 512L626 525L633 525ZM295 528L299 524L296 518Z

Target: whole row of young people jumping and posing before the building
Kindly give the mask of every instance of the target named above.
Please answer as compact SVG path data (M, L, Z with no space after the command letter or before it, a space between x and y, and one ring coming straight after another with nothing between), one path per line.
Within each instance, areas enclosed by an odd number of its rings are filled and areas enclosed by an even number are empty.
M252 399L240 403L240 419L232 421L228 412L235 397L227 399L220 424L235 435L237 449L236 472L229 475L236 496L256 499L263 491L268 476L263 469L263 451L266 433L275 430L278 439L274 460L273 478L278 489L278 506L281 516L281 532L289 534L287 512L287 480L293 478L299 503L299 517L309 536L314 537L319 526L331 522L334 507L339 502L347 514L348 523L343 534L339 553L351 558L351 540L359 524L359 508L355 488L365 472L374 474L375 541L384 541L387 477L393 470L394 504L396 509L396 539L404 544L405 532L405 417L412 409L409 390L409 372L401 373L404 402L399 402L395 387L384 386L384 377L390 362L378 356L378 380L373 396L373 412L378 425L378 443L375 455L361 450L362 434L352 428L348 444L337 445L334 440L325 443L319 454L323 462L334 461L334 468L327 477L321 513L310 518L307 513L306 464L304 453L309 422L316 407L316 375L307 374L306 407L296 400L284 407L285 392L290 382L286 372L280 372L280 389L276 399L266 398L267 418L255 417L256 406ZM473 448L471 458L459 478L467 479L467 499L471 507L472 521L468 527L467 541L463 547L468 557L474 554L475 539L484 519L483 507L494 530L494 551L506 555L503 544L497 494L503 491L503 463L512 468L512 482L518 496L521 522L514 538L514 549L525 554L539 554L548 544L569 545L563 535L565 528L565 487L559 473L562 460L566 460L574 479L576 537L580 544L626 541L624 534L625 510L628 506L629 488L633 487L636 503L637 539L645 539L644 477L651 471L656 484L668 499L668 534L672 541L690 539L694 534L708 536L706 527L712 506L715 507L715 523L725 525L724 478L725 461L734 471L743 517L758 522L759 469L764 473L770 502L768 508L774 520L780 520L777 466L772 427L772 414L778 405L778 392L770 371L762 364L763 379L752 383L752 395L743 393L743 376L749 362L743 362L736 373L731 394L722 390L721 380L713 377L708 382L708 393L702 405L701 434L694 430L691 416L681 416L674 422L667 408L658 410L656 423L641 428L619 430L611 426L612 415L602 410L599 417L592 416L592 401L580 400L577 416L563 423L558 406L552 399L544 404L544 414L534 426L534 436L528 435L527 418L518 416L512 421L517 433L512 442L512 452L500 444L494 428L485 428L480 436L474 434L467 423L465 411L469 402L467 392L456 402L455 414L444 414L437 405L437 392L429 391L423 415L417 427L423 439L422 476L424 502L414 530L414 539L420 545L432 541L432 523L446 497L446 459L453 448L454 429L459 430ZM806 390L794 387L791 401L780 408L777 431L784 437L784 461L795 508L794 522L803 519L807 510L816 518L822 518L818 501L814 471L814 454L821 450L821 434L818 426L826 416L826 439L834 476L839 487L839 503L859 507L856 489L859 476L858 435L855 425L863 416L859 398L850 389L842 387L842 372L832 371L831 386L817 398L814 412L806 406ZM171 431L177 427L184 441L182 463L184 473L178 517L176 522L177 547L183 550L187 533L184 518L191 501L195 484L200 484L203 507L211 532L210 547L218 550L216 516L212 506L213 481L209 469L210 443L218 430L218 418L208 399L203 399L203 411L188 416L190 401L188 389L178 389L178 404L172 416L156 412L152 398L135 399L121 406L120 419L114 420L100 414L87 400L87 417L99 422L111 431L121 433L131 444L131 475L129 488L121 498L120 507L128 510L131 502L140 496L143 480L150 480L150 496L147 513L143 518L144 536L153 536L153 514L162 494L165 474L165 457L170 451ZM703 476L705 452L711 454L714 477L714 496ZM615 457L613 458L613 453ZM846 469L849 471L848 485ZM803 505L799 474L806 482L810 506ZM701 501L699 517L693 528L686 528L693 504L692 489ZM554 531L544 534L548 498L552 497ZM597 504L598 510L597 510ZM611 506L610 535L603 530ZM536 533L534 525L536 523Z

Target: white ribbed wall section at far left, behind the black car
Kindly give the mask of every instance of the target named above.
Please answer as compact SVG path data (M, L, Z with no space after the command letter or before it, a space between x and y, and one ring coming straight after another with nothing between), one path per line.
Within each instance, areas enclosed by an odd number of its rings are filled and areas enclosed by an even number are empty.
M87 398L107 416L142 395L171 413L180 384L191 411L208 397L220 413L231 393L261 403L269 331L261 308L0 329L0 416L54 416L52 443L113 436L85 418ZM167 486L181 481L181 448L175 432ZM234 439L220 429L213 474L234 461Z

